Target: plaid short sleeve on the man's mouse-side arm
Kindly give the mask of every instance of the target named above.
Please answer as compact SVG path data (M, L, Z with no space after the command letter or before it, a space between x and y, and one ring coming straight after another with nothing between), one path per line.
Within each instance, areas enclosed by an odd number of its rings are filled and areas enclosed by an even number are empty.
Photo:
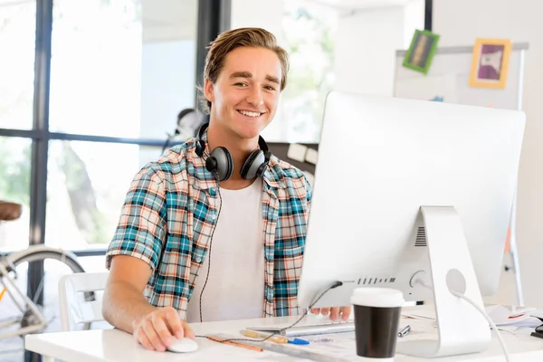
M167 234L166 210L162 180L153 169L144 167L132 180L121 208L106 252L106 268L110 269L114 255L130 255L155 270Z

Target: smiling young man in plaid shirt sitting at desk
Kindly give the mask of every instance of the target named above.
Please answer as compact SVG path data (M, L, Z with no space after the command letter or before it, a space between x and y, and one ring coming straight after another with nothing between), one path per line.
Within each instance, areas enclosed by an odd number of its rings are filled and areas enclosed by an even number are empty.
M186 322L301 312L310 184L259 136L288 68L271 33L220 34L205 60L208 127L133 180L107 252L103 314L145 348L194 338Z

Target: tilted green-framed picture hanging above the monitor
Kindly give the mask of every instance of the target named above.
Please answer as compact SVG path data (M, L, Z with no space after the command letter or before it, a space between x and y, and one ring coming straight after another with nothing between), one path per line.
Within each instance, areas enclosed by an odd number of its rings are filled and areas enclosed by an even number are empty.
M404 66L426 74L432 64L438 41L439 35L435 33L427 30L415 30L411 45L405 53Z

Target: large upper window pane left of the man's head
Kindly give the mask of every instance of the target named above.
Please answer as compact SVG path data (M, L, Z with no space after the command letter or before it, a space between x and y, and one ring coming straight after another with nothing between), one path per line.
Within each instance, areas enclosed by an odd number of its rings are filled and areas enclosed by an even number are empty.
M195 103L197 0L55 0L50 127L167 137Z

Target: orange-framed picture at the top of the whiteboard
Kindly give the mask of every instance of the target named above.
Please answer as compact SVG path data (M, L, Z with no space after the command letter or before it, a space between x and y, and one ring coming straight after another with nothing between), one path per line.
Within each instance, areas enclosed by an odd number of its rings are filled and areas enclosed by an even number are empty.
M510 40L476 39L473 46L470 86L505 88L510 53Z

